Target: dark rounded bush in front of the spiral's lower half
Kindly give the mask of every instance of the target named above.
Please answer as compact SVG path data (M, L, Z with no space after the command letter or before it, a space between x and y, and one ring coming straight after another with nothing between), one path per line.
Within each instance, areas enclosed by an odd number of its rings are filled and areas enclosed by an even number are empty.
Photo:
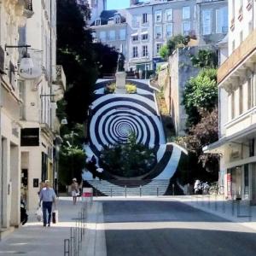
M132 134L127 143L104 148L100 156L103 169L120 177L141 176L152 170L155 163L154 150L136 143Z

